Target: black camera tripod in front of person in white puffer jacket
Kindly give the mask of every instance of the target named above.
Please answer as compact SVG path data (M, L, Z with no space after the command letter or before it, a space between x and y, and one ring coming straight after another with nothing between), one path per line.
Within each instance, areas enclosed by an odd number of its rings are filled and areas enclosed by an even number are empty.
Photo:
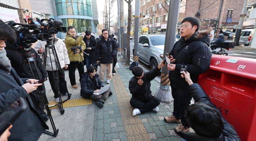
M48 50L48 49L51 49L52 53L53 53L53 56L54 56L54 60L55 60L55 68L57 69L56 72L57 72L57 76L55 76L54 72L53 72L53 62L52 62L52 58L51 58L51 51ZM54 47L54 43L53 43L53 39L51 38L49 41L46 41L46 45L45 45L45 48L44 48L44 68L46 68L46 59L47 59L47 53L49 53L49 56L50 56L50 61L51 61L51 69L52 69L52 72L53 72L53 78L54 78L54 85L55 87L57 88L57 91L58 91L58 94L59 94L59 99L60 99L60 102L58 104L55 104L55 105L51 105L49 107L52 107L52 106L58 106L59 110L60 110L60 113L63 115L65 110L63 109L63 104L64 102L66 102L67 100L70 99L71 97L71 93L68 92L68 89L66 89L67 93L68 93L68 98L64 101L62 101L62 98L61 98L61 93L60 93L60 86L58 84L58 82L61 80L65 80L64 78L64 75L61 71L61 65L60 65L60 61L59 61L59 58L57 56L57 52L56 52L56 49ZM60 76L60 77L59 77Z

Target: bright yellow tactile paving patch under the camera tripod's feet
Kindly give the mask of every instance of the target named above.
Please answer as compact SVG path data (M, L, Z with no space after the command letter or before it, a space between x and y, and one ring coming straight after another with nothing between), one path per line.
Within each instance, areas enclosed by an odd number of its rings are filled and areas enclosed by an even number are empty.
M82 106L82 105L90 105L92 104L92 99L86 99L86 98L78 98L78 99L70 99L63 103L63 107L73 107L73 106ZM49 106L55 105L56 102L49 101ZM50 109L58 108L58 106L50 107Z

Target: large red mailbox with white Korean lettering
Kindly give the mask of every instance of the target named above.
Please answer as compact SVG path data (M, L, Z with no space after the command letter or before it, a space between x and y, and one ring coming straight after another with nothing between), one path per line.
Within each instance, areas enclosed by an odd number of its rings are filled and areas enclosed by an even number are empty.
M241 140L256 141L256 59L213 55L198 83Z

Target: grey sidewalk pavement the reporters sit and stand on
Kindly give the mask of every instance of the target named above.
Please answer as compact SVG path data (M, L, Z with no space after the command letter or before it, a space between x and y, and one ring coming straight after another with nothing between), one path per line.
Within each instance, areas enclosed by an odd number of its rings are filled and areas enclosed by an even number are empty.
M179 141L181 138L174 132L178 124L168 124L163 118L172 115L173 103L159 105L159 112L150 111L141 115L132 116L130 106L131 94L128 83L133 76L128 66L119 63L116 75L110 83L113 95L109 96L103 108L98 108L95 102L91 105L64 108L64 115L59 109L52 109L51 113L56 128L57 137L42 134L39 141ZM71 99L81 98L80 88L73 89L65 71L68 90ZM76 80L79 76L76 71ZM105 83L105 81L104 81ZM53 92L49 82L45 82L47 98L53 101ZM77 83L78 86L79 82ZM151 81L151 91L154 95L159 88L159 82ZM63 96L66 99L66 96ZM52 131L50 121L47 121ZM191 130L192 132L192 130Z

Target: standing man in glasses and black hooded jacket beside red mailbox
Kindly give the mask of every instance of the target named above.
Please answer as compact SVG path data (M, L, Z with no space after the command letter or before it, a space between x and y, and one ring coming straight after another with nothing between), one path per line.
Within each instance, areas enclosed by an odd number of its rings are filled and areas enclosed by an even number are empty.
M188 91L188 83L181 77L182 70L190 72L191 80L196 83L199 74L204 73L210 67L212 54L208 48L210 44L210 30L199 30L199 19L185 17L180 26L181 38L177 41L168 58L170 63L169 79L174 99L172 115L165 117L168 123L181 123L176 127L177 132L188 132L189 124L184 117L185 109L190 105L192 96Z

